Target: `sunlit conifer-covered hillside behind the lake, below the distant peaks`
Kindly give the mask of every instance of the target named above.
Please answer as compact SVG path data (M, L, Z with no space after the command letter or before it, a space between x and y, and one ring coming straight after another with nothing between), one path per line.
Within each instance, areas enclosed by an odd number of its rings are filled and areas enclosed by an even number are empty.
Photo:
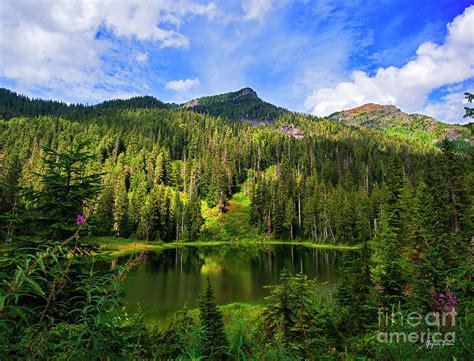
M370 239L395 165L406 187L431 177L443 179L448 189L451 167L465 162L449 153L449 143L443 154L327 120L291 115L285 121L298 124L304 138L182 110L117 110L80 121L10 119L1 124L2 168L13 186L38 186L34 173L44 167L42 147L66 151L81 140L96 155L92 169L103 173L100 195L89 205L98 234L180 239L187 234L178 219L182 202L199 199L223 209L250 179L251 219L262 232L340 244ZM9 193L12 184L5 187ZM9 204L16 212L22 208L5 199L3 206ZM452 222L458 223L465 211L454 211Z

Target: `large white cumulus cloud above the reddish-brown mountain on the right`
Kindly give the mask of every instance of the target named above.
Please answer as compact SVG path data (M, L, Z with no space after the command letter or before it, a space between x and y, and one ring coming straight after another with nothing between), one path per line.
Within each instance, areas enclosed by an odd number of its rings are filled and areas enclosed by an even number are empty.
M408 112L426 110L440 116L440 120L459 121L454 112L440 111L442 104L454 107L459 94L445 96L440 104L427 104L427 98L432 90L474 77L473 29L474 6L470 6L447 25L443 44L425 42L418 47L413 60L401 67L379 68L373 76L354 71L350 81L313 91L305 106L324 116L373 102L393 104Z

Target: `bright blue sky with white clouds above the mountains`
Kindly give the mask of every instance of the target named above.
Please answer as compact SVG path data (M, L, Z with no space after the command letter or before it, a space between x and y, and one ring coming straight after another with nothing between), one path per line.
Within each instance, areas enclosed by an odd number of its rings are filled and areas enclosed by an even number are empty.
M0 0L0 87L93 104L247 86L318 116L372 102L467 123L474 1Z

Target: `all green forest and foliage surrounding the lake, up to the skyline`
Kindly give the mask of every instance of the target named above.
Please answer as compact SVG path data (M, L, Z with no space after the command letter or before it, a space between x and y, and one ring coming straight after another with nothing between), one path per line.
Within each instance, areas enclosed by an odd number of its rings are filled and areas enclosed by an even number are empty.
M148 97L86 107L0 91L2 359L468 355L470 145L433 146L421 135L431 124L423 117L410 118L415 139L401 138L392 136L405 129L395 120L377 133L290 114L249 89L198 103L195 112ZM304 137L275 129L295 124ZM360 247L343 260L334 299L283 272L263 313L225 311L208 283L200 320L183 310L151 331L117 307L121 280L139 258L101 274L84 232L120 242L278 238ZM433 294L446 290L466 320L459 346L430 353L420 343L376 341L379 307L432 310Z

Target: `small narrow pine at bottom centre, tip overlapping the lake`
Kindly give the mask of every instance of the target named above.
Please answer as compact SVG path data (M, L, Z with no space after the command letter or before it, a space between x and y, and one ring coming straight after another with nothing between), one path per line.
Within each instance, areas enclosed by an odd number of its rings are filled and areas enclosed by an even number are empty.
M217 308L214 288L209 277L199 299L199 314L204 334L205 355L211 360L226 359L229 346L224 332L222 313Z

